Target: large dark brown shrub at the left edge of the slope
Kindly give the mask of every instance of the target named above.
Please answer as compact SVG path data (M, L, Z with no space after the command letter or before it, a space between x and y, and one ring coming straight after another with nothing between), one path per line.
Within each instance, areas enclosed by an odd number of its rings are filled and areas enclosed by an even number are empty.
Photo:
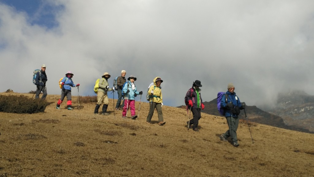
M33 114L44 112L49 103L20 95L0 95L0 112Z

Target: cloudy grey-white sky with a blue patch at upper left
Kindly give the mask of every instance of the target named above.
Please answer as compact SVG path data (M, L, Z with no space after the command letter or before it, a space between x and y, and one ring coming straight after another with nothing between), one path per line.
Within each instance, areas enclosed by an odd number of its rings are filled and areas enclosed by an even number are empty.
M111 84L126 70L138 91L161 77L169 106L195 80L203 101L234 83L242 102L270 105L278 92L312 94L313 31L312 0L0 0L0 92L35 90L46 64L48 94L67 71L79 95L95 95L104 72Z

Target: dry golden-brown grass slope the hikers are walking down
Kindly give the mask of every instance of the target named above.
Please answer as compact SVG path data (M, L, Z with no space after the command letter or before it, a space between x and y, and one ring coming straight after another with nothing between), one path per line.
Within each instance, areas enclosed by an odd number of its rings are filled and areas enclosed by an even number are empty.
M112 100L109 116L94 115L95 103L78 110L75 96L73 111L65 104L57 110L59 96L47 96L53 104L44 113L0 112L0 175L314 176L314 134L252 124L252 144L241 122L236 148L219 140L227 129L224 117L202 114L200 131L194 132L187 130L188 115L180 108L164 106L166 124L158 126L156 113L153 124L145 123L146 102L141 102L139 119L131 120L122 119L121 111L113 115Z

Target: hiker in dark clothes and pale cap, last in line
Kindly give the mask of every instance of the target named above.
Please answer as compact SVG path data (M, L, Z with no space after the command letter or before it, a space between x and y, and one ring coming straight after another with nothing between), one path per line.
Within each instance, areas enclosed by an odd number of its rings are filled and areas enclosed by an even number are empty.
M39 99L39 94L42 92L41 100L45 100L47 96L47 88L46 88L46 82L47 82L47 75L46 75L46 65L41 65L40 72L36 73L35 78L35 85L37 87L36 89L36 96L35 99ZM34 96L34 95L33 95Z

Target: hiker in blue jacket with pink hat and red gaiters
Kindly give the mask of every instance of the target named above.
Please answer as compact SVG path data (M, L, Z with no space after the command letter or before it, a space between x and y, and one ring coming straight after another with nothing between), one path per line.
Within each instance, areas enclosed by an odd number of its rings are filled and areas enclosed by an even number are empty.
M74 74L72 74L71 71L68 71L67 74L65 74L65 77L60 81L60 84L62 85L62 90L61 90L61 98L57 102L57 109L60 109L60 105L64 99L65 96L67 96L67 106L68 110L73 110L72 108L72 99L71 99L71 87L78 87L78 84L74 84L72 81L72 77Z

